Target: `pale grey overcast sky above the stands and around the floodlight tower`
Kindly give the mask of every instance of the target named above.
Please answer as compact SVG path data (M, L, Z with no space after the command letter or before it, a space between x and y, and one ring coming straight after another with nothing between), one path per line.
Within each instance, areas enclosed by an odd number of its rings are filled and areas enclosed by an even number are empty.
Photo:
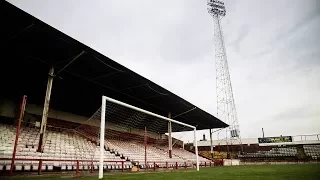
M216 115L206 0L9 0ZM320 1L226 0L241 136L320 133Z

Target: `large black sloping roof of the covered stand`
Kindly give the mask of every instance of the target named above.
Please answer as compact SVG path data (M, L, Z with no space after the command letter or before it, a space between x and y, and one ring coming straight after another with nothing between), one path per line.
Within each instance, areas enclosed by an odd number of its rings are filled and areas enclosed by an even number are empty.
M28 96L43 105L50 67L55 68L50 108L91 116L101 96L172 117L196 106L94 49L2 1L3 95ZM177 118L197 129L228 125L196 107Z

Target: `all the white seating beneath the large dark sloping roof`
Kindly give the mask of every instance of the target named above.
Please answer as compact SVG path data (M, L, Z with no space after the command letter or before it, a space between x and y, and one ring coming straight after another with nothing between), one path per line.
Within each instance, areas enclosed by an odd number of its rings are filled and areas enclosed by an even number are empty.
M15 131L16 128L14 126L0 124L0 158L12 157ZM17 160L15 161L16 171L37 171L39 159L42 159L41 169L43 171L52 171L54 167L58 167L63 171L76 169L75 160L86 160L87 162L80 161L79 169L90 170L91 161L99 160L99 146L88 141L88 138L83 137L81 134L72 131L59 132L47 130L42 153L37 152L39 137L39 129L30 127L21 128L16 153ZM131 168L134 162L139 162L142 168L145 167L144 144L141 144L141 142L106 139L105 147L105 161L117 162L107 162L104 168L122 169L122 162L124 169ZM173 156L169 158L167 149L166 146L161 146L160 148L148 144L146 149L148 166L152 168L154 162L157 167L174 167L176 166L176 162L178 166L184 166L185 162L189 165L195 163L194 153L174 148L172 151ZM19 160L18 158L28 160ZM51 161L53 159L56 161ZM207 163L210 162L208 159L200 156L199 160L203 163L205 161ZM0 161L0 170L9 170L10 165L11 160ZM98 169L98 162L94 162L93 165L94 169Z

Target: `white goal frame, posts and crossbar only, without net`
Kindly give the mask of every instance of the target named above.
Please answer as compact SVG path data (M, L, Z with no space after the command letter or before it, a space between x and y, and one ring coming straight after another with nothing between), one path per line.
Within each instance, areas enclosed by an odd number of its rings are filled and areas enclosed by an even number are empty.
M100 125L100 158L99 158L99 179L103 178L103 157L104 157L104 135L105 135L105 120L106 120L106 102L111 102L114 104L118 104L120 106L124 106L127 107L129 109L162 119L164 121L168 121L168 122L172 122L172 123L176 123L176 124L180 124L189 128L192 128L194 131L194 146L195 146L195 156L196 156L196 167L197 167L197 171L199 171L199 156L198 156L198 144L197 144L197 128L195 126L186 124L186 123L182 123L179 121L176 121L174 119L171 118L167 118L143 109L140 109L138 107L117 101L115 99L109 98L107 96L102 96L102 104L101 104L101 125Z

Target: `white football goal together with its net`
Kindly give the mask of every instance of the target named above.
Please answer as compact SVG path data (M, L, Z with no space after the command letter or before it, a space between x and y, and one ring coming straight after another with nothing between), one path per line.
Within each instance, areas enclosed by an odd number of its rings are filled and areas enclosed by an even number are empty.
M171 119L170 113L164 117L103 96L101 107L74 131L97 144L90 158L99 160L95 162L99 178L110 168L188 166L199 170L196 127ZM184 150L184 142L172 137L182 131L194 141L194 153Z

